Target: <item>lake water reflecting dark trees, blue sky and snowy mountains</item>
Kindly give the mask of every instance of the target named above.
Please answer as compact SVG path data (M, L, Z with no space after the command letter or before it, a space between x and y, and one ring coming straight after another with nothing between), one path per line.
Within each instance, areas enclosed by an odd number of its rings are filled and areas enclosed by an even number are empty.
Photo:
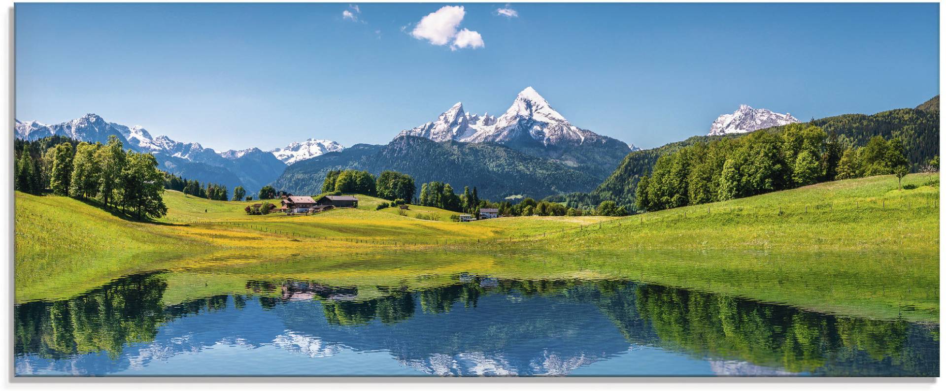
M132 276L17 305L16 373L938 375L936 325L632 281L454 281L248 281L245 294L166 305L165 274Z

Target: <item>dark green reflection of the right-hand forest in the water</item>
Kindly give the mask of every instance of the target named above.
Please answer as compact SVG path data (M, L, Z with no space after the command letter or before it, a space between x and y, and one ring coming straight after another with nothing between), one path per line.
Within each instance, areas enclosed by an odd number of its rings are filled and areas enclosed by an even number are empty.
M839 318L657 285L639 285L636 295L639 317L656 332L657 344L697 357L829 373L856 370L850 365L856 359L866 369L870 362L904 373L935 373L924 366L929 356L907 346L909 324L902 320ZM915 342L938 345L926 335Z

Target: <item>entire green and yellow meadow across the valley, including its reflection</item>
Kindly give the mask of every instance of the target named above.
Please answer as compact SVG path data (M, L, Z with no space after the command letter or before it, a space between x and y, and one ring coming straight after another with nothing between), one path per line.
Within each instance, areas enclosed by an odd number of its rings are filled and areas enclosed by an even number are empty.
M16 300L69 297L157 269L172 272L171 302L240 293L247 280L423 289L469 272L641 280L937 322L938 177L903 183L899 190L891 176L860 178L622 218L472 223L375 211L382 200L364 195L359 209L250 216L247 202L178 192L166 192L165 218L146 223L70 198L18 193Z

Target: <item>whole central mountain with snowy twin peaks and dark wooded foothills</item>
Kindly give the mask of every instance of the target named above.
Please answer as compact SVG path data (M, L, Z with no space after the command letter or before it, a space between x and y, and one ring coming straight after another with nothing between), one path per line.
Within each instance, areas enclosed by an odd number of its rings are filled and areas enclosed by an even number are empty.
M491 199L540 198L590 191L638 149L571 125L528 87L499 117L467 112L457 103L435 121L402 130L389 144L357 144L293 164L273 186L316 194L330 170L396 170L417 183L477 187Z

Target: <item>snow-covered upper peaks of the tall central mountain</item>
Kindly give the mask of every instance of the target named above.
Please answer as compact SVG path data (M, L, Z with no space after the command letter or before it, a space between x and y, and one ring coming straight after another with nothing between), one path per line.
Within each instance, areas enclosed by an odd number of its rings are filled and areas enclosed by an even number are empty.
M462 102L453 105L436 121L402 130L400 136L426 137L436 142L521 144L537 142L544 146L585 144L601 141L604 136L575 127L532 87L518 93L509 110L502 115L477 115L464 111ZM636 150L626 145L628 151Z

